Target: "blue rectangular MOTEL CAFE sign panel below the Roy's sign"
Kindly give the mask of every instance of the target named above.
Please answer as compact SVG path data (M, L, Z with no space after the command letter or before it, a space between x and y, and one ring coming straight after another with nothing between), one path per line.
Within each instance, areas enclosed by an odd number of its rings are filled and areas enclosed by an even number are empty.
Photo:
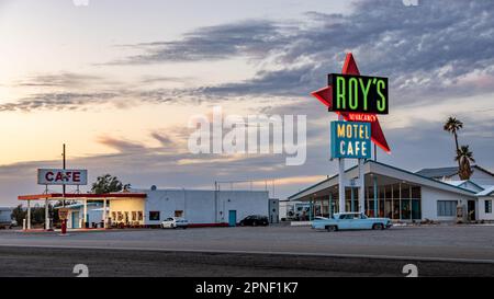
M369 123L332 122L332 158L371 158Z

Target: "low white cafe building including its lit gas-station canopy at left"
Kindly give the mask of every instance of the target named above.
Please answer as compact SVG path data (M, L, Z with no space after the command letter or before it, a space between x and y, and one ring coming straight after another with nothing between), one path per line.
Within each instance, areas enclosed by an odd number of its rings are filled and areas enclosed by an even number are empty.
M32 202L76 200L67 205L68 229L158 227L170 217L183 217L192 227L236 226L249 215L267 216L278 221L278 199L269 198L268 191L218 189L130 189L119 193L44 193L20 195L27 207L26 229L31 229ZM58 209L61 207L58 207ZM46 209L45 209L46 210ZM274 219L276 218L276 219ZM45 212L45 229L50 229Z

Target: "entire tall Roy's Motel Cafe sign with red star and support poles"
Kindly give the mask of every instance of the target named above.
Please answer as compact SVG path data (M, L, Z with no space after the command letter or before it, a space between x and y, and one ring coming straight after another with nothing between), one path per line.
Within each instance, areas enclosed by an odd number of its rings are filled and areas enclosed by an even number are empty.
M341 73L329 73L327 87L312 93L338 115L330 124L330 157L338 159L339 212L346 211L345 187L358 187L359 207L364 212L363 162L371 158L371 141L391 153L378 114L389 113L388 78L360 76L348 53ZM358 159L357 182L345 174L345 159Z

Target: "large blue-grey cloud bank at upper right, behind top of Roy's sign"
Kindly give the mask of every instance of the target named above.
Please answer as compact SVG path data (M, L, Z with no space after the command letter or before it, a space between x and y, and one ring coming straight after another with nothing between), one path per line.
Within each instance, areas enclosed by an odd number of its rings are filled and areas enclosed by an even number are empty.
M202 27L182 39L134 45L122 64L248 57L254 78L203 87L213 96L301 96L321 88L352 50L367 74L390 77L395 103L468 96L494 90L494 2L355 2L349 14L308 12L300 22L246 21Z

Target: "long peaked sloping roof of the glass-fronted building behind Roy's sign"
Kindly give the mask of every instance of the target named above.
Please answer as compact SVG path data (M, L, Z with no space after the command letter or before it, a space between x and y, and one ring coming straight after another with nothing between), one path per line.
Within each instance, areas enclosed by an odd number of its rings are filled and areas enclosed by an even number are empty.
M441 182L441 181L438 181L438 180L435 180L435 179L431 179L431 177L428 177L428 176L425 176L425 175L422 175L418 173L409 172L407 170L395 168L395 166L392 166L392 165L389 165L385 163L377 162L373 160L367 160L364 165L369 166L367 169L368 171L367 172L364 171L364 173L374 173L375 172L379 174L380 172L381 173L385 172L386 175L393 175L393 173L394 173L394 175L398 175L398 176L403 176L403 177L406 176L407 181L416 183L416 184L426 184L428 186L447 189L450 192L457 192L457 193L460 193L463 195L475 196L475 192L473 192L473 191L462 188L459 186L454 186L454 185L448 184L446 182ZM345 173L349 173L356 169L357 169L357 165L346 170ZM317 184L314 184L310 187L306 187L306 188L293 194L292 196L289 196L289 199L296 200L299 198L306 196L306 195L304 195L306 193L315 192L316 189L326 188L326 187L328 187L327 185L329 184L329 182L333 180L336 180L337 177L338 177L338 174L335 174Z

